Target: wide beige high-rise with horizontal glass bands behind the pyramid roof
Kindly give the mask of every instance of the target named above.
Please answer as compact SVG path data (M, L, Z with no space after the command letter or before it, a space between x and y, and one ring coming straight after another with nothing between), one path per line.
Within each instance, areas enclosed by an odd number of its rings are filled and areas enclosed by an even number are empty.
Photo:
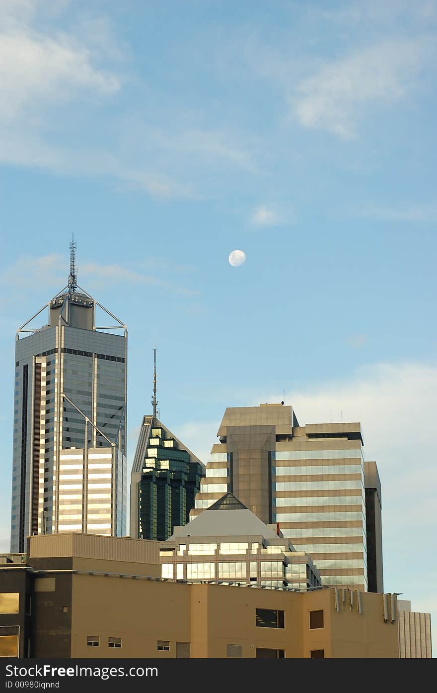
M322 584L368 590L366 486L374 536L372 585L382 591L378 471L366 484L360 423L299 426L292 407L227 408L191 517L231 491L263 522L279 523L310 554ZM373 489L373 490L371 490Z

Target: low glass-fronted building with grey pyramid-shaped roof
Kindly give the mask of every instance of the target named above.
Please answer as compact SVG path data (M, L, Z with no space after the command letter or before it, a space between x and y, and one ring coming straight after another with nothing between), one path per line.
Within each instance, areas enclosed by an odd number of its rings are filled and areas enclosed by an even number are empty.
M232 493L160 545L161 576L168 580L212 582L277 590L321 585L313 561L265 525Z

